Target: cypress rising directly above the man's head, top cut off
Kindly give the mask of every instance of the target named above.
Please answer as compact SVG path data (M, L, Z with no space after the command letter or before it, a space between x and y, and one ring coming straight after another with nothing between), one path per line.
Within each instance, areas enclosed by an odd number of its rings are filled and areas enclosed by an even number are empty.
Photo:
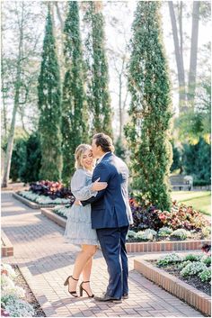
M104 19L100 1L87 2L84 22L89 32L86 40L88 67L88 104L92 131L112 136L109 94L109 70L105 53Z

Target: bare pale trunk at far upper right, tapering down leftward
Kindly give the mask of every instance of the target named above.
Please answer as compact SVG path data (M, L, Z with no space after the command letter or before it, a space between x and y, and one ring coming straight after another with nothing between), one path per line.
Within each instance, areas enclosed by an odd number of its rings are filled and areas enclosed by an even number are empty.
M199 6L200 6L199 1L193 2L192 31L191 31L191 45L190 45L190 73L189 73L189 84L188 84L188 100L191 105L194 104L195 88L196 88L198 36L199 36Z

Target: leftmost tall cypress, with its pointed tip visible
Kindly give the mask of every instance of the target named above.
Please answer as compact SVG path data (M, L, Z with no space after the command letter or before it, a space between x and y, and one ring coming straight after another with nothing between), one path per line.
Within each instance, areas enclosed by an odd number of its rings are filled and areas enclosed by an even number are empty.
M59 180L62 170L61 87L52 21L48 12L39 77L40 178Z

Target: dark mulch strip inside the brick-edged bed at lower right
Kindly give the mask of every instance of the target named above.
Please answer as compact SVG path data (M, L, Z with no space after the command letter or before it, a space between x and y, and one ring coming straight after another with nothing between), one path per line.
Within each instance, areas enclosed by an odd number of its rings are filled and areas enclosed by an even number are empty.
M152 263L154 266L156 266L155 260L148 260L148 261ZM182 277L180 274L181 269L174 268L174 265L163 267L163 270L171 274L172 276L181 279L183 282L189 284L190 286L197 288L199 291L206 293L208 295L211 295L211 285L209 282L203 283L201 282L199 277Z

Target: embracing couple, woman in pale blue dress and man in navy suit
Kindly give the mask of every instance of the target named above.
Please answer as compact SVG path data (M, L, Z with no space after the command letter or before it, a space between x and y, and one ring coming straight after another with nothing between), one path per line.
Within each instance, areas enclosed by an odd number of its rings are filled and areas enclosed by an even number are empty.
M68 292L78 297L76 287L80 275L80 295L101 302L120 303L128 298L128 257L125 247L132 214L128 204L128 167L113 154L110 137L93 136L92 146L81 144L75 150L75 174L71 190L75 195L67 217L65 236L80 244L72 276L66 278ZM93 169L94 160L98 159ZM106 293L94 296L90 286L93 255L101 245L106 260L109 284Z

